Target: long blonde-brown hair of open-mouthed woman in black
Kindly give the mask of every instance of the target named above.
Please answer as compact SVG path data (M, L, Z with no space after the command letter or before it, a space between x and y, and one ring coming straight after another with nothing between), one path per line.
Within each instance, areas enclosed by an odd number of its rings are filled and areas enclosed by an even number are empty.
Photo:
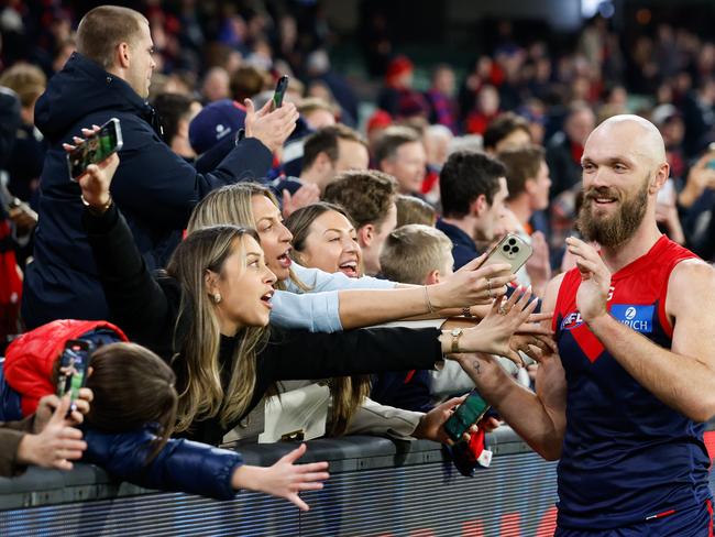
M237 333L240 344L233 351L224 393L219 363L221 331L205 283L207 271L221 274L226 259L237 249L245 254L246 234L258 240L254 230L235 226L198 229L176 248L166 267L183 291L174 331L177 353L173 365L179 394L176 430L189 429L197 418L216 416L227 427L240 419L253 397L256 354L267 339L267 328L249 327Z

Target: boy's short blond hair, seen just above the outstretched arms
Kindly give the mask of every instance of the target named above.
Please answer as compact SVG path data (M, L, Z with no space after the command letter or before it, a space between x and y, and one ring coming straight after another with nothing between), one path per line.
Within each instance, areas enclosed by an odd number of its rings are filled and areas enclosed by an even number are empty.
M424 285L430 272L447 270L451 253L452 241L440 230L410 223L387 235L380 266L388 280Z

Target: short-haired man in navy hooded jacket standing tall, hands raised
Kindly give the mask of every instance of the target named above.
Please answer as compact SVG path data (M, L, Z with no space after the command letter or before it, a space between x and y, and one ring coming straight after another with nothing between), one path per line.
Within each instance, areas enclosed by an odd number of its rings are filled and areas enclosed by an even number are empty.
M155 67L147 20L136 11L101 6L77 29L77 53L55 75L35 108L50 141L40 197L34 262L28 266L23 317L28 328L57 318L102 319L108 310L80 224L79 187L69 180L63 143L85 125L117 118L123 134L112 197L129 220L151 268L164 266L196 202L211 189L264 177L272 153L295 128L292 103L256 111L246 101L245 138L227 143L208 173L198 173L163 142L146 103ZM212 156L216 158L216 155Z

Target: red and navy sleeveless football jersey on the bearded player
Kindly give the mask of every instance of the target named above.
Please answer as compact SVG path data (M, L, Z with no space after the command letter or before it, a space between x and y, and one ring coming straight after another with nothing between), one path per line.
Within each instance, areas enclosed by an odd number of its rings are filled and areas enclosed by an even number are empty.
M610 315L670 349L668 280L679 262L692 257L661 237L612 275ZM616 528L673 509L704 508L710 497L704 424L664 405L620 366L579 314L580 284L578 268L564 275L553 316L568 384L559 526Z

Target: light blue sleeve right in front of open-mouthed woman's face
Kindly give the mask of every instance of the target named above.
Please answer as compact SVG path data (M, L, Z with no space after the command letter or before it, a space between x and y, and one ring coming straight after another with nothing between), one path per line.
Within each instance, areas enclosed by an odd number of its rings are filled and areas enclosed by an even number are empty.
M337 291L299 295L276 291L271 299L271 324L311 332L337 332L340 322L340 297Z

